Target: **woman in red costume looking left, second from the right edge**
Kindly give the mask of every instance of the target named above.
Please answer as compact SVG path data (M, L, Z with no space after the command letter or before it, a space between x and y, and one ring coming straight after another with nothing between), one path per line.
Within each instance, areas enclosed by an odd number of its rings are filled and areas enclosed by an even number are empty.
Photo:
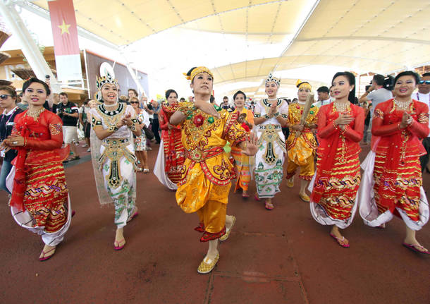
M352 73L336 73L332 85L336 100L322 106L318 113L317 174L310 207L312 217L319 224L331 225L330 236L348 248L349 241L339 229L352 223L357 210L364 111L350 102L355 97Z

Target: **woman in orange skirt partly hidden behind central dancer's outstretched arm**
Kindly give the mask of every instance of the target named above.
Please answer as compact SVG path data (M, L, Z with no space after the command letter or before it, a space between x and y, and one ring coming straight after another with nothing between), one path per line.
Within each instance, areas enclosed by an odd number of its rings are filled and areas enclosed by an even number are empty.
M235 92L233 95L233 101L235 103L235 112L239 113L239 121L242 123L242 127L248 132L252 129L254 124L254 114L251 110L245 108L246 95L242 91ZM250 197L248 195L248 186L251 181L251 157L242 153L238 147L231 148L231 155L235 159L236 174L238 175L236 179L235 192L239 188L242 189L242 197Z

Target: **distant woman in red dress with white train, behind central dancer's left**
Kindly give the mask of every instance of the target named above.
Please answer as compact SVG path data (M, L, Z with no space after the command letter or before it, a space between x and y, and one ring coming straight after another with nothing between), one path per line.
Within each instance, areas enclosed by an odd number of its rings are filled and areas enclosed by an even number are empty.
M166 91L166 104L161 106L159 114L161 141L154 174L159 181L171 190L176 190L180 180L180 170L185 161L185 150L181 142L180 126L173 126L169 119L178 105L178 93Z

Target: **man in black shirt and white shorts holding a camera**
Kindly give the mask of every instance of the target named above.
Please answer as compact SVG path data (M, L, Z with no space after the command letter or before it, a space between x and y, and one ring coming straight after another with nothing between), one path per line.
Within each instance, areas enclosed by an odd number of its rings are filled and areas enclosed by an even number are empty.
M78 124L78 111L78 106L68 101L67 93L61 92L56 114L63 121L63 142L70 145L70 150L73 152L73 157L69 160L80 159L75 145L75 142L78 142L78 127L76 126Z

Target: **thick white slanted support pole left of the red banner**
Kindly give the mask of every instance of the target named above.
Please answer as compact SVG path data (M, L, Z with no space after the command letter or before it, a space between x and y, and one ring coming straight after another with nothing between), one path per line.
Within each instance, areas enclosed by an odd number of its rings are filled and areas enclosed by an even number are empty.
M51 77L50 83L52 92L61 92L59 83L49 68L47 61L45 61L44 57L40 53L39 47L37 47L37 44L32 39L30 32L28 32L27 28L25 27L23 20L16 11L13 1L0 0L0 13L12 34L18 38L25 59L27 59L37 78L44 80L45 75L49 75Z

